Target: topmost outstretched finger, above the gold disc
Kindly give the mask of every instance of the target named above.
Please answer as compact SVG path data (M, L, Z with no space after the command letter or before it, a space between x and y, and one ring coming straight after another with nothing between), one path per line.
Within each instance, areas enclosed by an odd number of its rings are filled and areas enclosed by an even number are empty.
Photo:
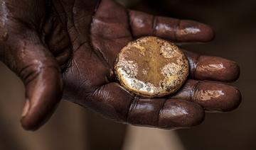
M129 18L135 37L153 35L172 42L208 42L214 37L208 25L196 21L152 16L139 11L129 11Z

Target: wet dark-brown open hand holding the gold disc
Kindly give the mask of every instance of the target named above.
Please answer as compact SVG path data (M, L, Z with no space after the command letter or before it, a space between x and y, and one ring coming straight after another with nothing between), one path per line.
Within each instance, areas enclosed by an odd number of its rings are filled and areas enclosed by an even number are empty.
M62 97L118 122L164 129L192 127L206 110L240 104L238 89L220 83L238 79L239 67L220 57L184 51L190 76L178 93L164 98L135 96L114 77L119 50L137 37L208 42L208 25L127 10L111 0L0 3L0 59L26 87L24 129L43 125Z

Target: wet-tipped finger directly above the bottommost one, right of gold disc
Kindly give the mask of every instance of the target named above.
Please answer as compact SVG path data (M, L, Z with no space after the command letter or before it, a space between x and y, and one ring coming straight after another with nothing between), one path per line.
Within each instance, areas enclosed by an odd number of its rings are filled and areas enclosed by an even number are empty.
M196 102L210 111L234 110L241 102L240 91L234 86L195 80L188 80L173 98Z

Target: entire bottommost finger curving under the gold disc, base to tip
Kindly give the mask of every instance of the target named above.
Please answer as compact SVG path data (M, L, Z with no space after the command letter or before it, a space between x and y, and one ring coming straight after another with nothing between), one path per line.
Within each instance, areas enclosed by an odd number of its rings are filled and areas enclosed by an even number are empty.
M176 129L198 125L204 118L203 109L196 103L134 97L117 83L108 83L87 98L93 110L132 125Z

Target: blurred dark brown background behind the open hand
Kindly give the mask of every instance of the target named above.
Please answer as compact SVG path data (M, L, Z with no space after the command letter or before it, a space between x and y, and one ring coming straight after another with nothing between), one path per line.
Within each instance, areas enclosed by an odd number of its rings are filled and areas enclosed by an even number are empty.
M122 125L63 100L37 132L18 123L24 100L21 81L0 64L0 149L3 150L254 150L256 149L256 1L119 0L139 11L211 25L215 40L183 45L186 50L240 64L235 86L242 104L230 113L208 113L202 125L176 131Z

